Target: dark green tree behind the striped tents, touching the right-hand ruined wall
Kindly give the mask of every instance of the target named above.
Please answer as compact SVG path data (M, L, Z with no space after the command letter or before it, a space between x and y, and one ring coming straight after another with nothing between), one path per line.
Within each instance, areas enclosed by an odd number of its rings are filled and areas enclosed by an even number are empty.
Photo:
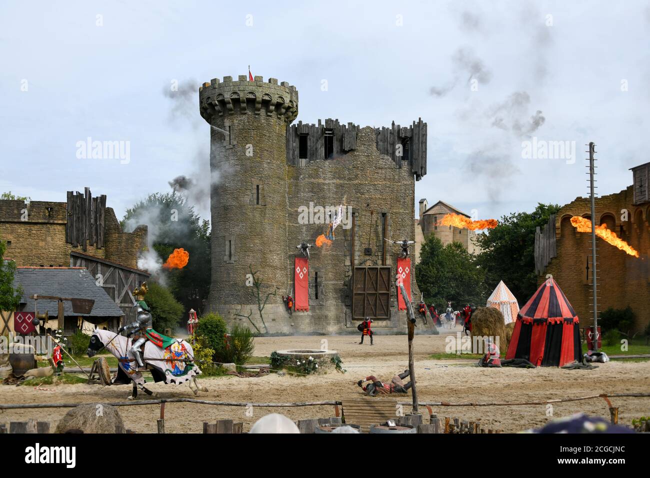
M558 213L557 204L541 204L532 213L512 213L499 220L489 233L477 236L482 251L477 264L485 271L492 291L502 280L523 306L538 288L535 273L535 230Z

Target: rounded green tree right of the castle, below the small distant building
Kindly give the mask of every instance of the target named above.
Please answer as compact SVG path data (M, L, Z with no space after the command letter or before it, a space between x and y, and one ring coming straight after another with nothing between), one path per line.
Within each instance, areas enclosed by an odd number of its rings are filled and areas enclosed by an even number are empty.
M468 302L482 305L486 299L484 272L476 267L476 257L461 243L443 246L434 235L422 245L415 278L424 301L435 304L438 310L445 310L447 300L460 307Z

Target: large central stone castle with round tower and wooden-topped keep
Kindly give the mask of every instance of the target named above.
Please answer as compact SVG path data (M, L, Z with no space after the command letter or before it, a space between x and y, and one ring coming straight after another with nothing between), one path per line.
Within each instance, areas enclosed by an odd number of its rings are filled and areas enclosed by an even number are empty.
M375 328L403 330L394 280L400 248L384 239L413 240L426 123L292 125L296 87L259 76L213 79L199 97L201 116L212 126L209 308L229 323L252 321L268 333L356 332L363 315ZM330 245L317 247L339 206L343 224ZM309 310L289 315L281 296L295 295L302 241L313 245ZM262 281L259 294L251 271ZM415 295L413 274L410 284ZM258 295L263 304L269 293L277 295L268 296L260 314Z

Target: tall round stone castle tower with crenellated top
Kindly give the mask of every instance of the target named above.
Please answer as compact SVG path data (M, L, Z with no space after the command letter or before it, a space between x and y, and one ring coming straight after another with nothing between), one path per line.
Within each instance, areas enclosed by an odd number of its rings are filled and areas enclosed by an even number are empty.
M261 76L224 77L199 88L211 125L212 283L209 310L257 315L250 268L263 280L266 312L287 294L287 126L298 116L295 86ZM264 294L266 295L266 294ZM264 297L262 297L264 300Z

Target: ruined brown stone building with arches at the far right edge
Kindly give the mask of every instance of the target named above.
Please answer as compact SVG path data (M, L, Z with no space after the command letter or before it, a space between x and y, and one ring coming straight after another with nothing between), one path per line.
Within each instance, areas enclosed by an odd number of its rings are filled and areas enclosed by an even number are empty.
M595 200L596 224L606 224L639 253L638 258L630 256L596 238L598 311L631 306L637 318L636 330L650 323L649 171L650 163L632 168L632 185ZM552 274L584 327L593 323L591 233L577 232L571 225L573 216L591 219L589 198L576 198L562 206L547 225L551 228L545 231L548 233L538 233L536 263L539 283L545 274Z

